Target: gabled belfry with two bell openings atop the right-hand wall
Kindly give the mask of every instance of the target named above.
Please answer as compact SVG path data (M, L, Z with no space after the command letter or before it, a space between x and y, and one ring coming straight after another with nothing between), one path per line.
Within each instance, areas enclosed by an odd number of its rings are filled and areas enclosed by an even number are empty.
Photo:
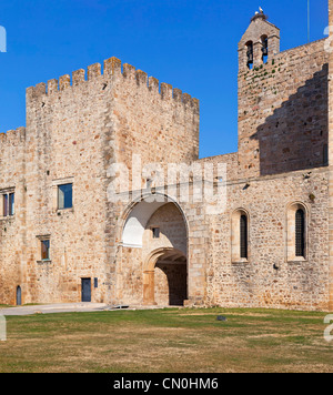
M251 23L239 43L240 72L270 61L280 52L280 29L268 21L261 10L251 19Z

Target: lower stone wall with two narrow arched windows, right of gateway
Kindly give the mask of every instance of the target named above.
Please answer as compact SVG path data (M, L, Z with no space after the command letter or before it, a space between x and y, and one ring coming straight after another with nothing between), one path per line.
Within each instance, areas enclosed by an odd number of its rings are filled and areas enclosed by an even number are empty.
M211 217L208 304L229 307L329 308L329 180L326 170L252 179L228 186L225 213ZM301 202L307 212L306 259L289 260L287 210ZM231 220L249 213L249 259L233 262ZM290 229L289 229L290 227Z

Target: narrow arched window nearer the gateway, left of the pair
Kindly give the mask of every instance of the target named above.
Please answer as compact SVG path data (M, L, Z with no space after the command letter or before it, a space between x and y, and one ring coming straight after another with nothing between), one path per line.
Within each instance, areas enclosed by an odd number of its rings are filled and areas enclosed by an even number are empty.
M249 214L243 209L231 217L231 255L234 263L249 260Z

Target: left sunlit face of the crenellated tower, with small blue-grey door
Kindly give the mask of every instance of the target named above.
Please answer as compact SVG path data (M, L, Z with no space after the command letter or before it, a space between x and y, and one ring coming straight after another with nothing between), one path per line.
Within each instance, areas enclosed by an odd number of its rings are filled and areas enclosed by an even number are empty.
M89 68L27 90L26 302L78 302L81 278L99 278L92 301L105 301L105 161L110 91ZM83 79L82 79L83 78ZM57 185L73 183L73 207L58 210ZM56 193L56 199L54 199ZM18 207L20 210L20 207ZM50 262L40 240L50 236ZM92 281L93 283L93 281Z

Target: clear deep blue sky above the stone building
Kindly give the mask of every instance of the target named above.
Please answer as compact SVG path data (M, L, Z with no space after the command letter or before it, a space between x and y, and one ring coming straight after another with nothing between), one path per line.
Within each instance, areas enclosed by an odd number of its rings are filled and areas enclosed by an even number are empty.
M311 41L327 0L311 1ZM307 42L307 0L0 0L0 132L26 125L26 88L117 57L200 99L200 155L238 149L238 42L261 6L281 50Z

